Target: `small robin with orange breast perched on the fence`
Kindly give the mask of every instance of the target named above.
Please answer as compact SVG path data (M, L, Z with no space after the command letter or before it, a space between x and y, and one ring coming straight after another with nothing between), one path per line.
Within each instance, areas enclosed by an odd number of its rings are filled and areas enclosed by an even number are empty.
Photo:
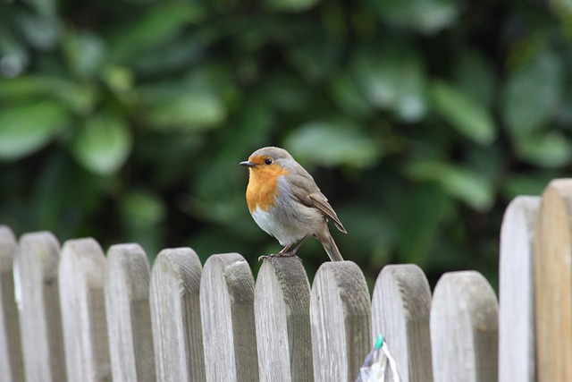
M312 175L288 151L274 147L257 149L240 166L248 167L250 215L265 233L284 246L280 252L260 259L296 256L302 242L314 235L332 261L343 260L328 229L328 220L342 233L347 233L346 229ZM299 244L290 250L296 242Z

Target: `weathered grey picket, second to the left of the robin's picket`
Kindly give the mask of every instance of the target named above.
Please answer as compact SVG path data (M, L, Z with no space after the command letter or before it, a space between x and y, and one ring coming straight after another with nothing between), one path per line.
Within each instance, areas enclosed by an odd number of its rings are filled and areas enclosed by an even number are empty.
M158 381L205 380L199 288L202 267L190 248L162 250L151 272L151 317Z

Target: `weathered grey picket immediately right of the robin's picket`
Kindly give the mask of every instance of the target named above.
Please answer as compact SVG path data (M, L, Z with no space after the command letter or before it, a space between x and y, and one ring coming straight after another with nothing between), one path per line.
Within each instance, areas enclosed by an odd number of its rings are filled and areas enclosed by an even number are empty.
M372 343L366 279L351 261L325 262L310 293L316 381L355 380Z

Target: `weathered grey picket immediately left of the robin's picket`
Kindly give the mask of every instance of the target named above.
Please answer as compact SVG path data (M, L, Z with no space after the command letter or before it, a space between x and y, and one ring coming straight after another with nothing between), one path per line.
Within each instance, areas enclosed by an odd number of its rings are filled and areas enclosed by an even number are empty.
M200 281L207 381L258 380L254 278L238 253L206 260Z

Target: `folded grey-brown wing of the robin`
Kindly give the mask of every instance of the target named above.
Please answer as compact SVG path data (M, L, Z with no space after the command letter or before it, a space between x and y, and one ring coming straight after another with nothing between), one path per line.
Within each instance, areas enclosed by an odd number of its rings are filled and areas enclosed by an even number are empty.
M296 197L296 199L298 199L303 205L316 208L322 212L324 216L332 220L336 228L338 228L342 233L348 233L341 224L340 218L338 218L332 206L328 203L328 199L315 185L312 175L308 174L306 170L302 169L302 171L303 172L300 172L299 174L292 174L294 176L290 176L292 195L294 195L294 197Z

